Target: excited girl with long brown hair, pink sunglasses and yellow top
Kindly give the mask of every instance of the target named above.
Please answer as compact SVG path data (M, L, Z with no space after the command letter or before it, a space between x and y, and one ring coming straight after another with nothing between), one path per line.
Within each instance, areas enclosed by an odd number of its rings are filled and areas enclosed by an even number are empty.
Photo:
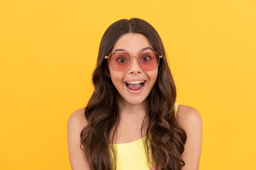
M176 103L176 87L156 30L139 18L102 37L86 108L68 120L73 170L198 169L202 120Z

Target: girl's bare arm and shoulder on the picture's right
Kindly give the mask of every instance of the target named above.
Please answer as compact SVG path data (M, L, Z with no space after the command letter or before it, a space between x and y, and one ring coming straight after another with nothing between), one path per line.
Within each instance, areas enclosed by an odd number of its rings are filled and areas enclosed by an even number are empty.
M186 165L182 170L196 170L199 168L202 146L201 115L195 108L178 105L177 121L187 135L185 150L181 155Z

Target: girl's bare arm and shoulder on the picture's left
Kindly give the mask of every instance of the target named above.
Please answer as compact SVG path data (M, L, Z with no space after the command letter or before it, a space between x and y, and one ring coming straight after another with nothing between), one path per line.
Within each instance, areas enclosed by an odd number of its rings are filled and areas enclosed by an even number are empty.
M80 132L87 125L84 113L85 108L80 108L68 119L68 154L73 170L90 169L85 153L80 149Z

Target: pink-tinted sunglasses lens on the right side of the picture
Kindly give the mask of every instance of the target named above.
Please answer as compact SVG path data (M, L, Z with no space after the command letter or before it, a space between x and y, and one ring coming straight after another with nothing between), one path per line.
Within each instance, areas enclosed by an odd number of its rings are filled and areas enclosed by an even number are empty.
M145 71L158 67L159 54L157 52L142 52L139 54L139 66Z

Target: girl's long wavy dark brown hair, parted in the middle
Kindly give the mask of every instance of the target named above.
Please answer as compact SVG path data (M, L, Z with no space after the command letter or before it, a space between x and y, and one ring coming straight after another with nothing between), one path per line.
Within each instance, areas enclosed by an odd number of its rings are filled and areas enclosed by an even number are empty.
M141 33L150 42L156 52L162 55L159 73L149 96L147 96L146 142L144 147L149 164L156 169L180 170L185 164L181 158L186 142L186 132L176 121L174 104L176 86L166 59L163 42L156 30L146 21L139 18L122 19L107 28L100 42L97 67L92 74L95 87L85 108L88 125L82 129L81 149L85 152L92 170L115 169L116 151L111 147L114 134L119 124L118 91L109 78L107 60L115 42L125 33ZM141 131L142 132L142 131Z

